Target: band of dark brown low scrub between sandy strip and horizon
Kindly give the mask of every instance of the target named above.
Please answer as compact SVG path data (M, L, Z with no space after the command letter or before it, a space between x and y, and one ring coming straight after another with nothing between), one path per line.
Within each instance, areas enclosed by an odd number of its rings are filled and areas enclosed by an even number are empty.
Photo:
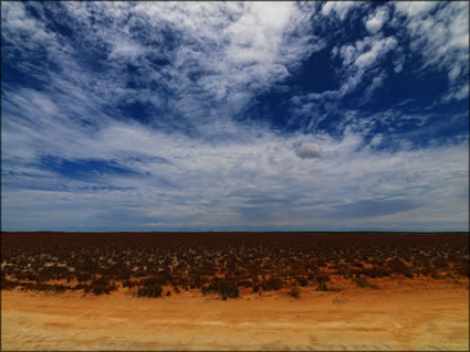
M56 294L200 289L229 299L284 286L328 291L331 277L370 287L387 276L458 281L470 271L468 234L1 233L1 289Z

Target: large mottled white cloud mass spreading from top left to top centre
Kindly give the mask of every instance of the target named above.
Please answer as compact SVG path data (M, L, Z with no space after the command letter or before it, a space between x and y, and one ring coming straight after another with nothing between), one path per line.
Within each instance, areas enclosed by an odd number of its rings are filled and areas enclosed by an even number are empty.
M177 124L196 118L213 121L216 116L207 114L210 105L236 114L260 89L288 77L303 57L325 44L310 30L315 11L305 15L294 2L65 2L50 10L70 17L66 26L83 46L71 45L45 29L43 21L28 17L22 3L3 11L6 42L14 43L25 58L31 57L31 47L38 55L46 52L63 70L61 77L51 77L45 66L30 67L30 74L60 81L53 84L72 83L74 90L83 89L98 104L142 102L156 109L165 105L170 109L167 118L179 119ZM24 36L23 28L42 34ZM95 72L87 67L90 56L101 60ZM155 62L166 65L156 67ZM24 60L18 66L28 64ZM142 74L130 78L128 64ZM128 79L138 85L138 94ZM156 85L173 95L170 102L153 96L150 87Z

